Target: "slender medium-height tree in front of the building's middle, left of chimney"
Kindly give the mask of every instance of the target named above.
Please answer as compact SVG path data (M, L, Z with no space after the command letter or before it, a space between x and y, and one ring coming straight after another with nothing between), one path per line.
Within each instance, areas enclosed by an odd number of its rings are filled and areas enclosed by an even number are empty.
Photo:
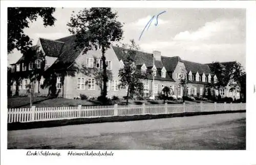
M143 75L140 69L136 68L135 65L135 56L136 50L139 49L139 46L135 43L134 40L130 40L131 45L129 50L126 50L127 53L123 59L124 66L119 70L120 84L119 87L126 88L126 104L129 102L129 95L133 95L134 93L140 93L141 87L143 87L140 79L143 78Z

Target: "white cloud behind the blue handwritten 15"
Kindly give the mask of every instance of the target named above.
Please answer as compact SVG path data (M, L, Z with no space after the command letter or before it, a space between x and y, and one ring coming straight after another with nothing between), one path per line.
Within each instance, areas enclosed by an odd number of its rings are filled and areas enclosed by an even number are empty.
M153 16L148 15L148 16L146 16L146 17L144 17L144 18L138 19L138 20L135 21L135 22L132 22L132 23L127 24L127 26L129 26L129 28L136 28L136 29L144 28L145 25L147 24L147 22L152 19L152 17L153 17ZM163 20L163 19L160 19L159 17L158 17L158 19L157 19L157 17L155 16L154 19L153 19L152 22L151 22L151 26L152 26L152 25L155 26L156 23L157 23L157 25L161 25L161 24L168 23L168 21Z

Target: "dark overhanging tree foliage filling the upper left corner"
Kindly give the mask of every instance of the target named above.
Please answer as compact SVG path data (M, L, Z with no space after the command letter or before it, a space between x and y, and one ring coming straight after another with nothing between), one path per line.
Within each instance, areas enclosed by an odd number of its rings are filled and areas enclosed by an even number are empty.
M17 49L25 53L32 41L24 34L24 29L29 28L29 21L36 21L40 16L44 21L44 26L52 26L56 18L52 16L55 8L8 8L8 53Z

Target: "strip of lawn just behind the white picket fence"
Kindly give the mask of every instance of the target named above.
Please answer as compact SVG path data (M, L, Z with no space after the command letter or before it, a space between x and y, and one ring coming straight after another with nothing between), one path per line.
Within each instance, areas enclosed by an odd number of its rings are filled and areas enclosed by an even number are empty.
M186 103L194 103L191 101L185 101ZM114 103L120 105L126 105L126 100L114 101ZM129 100L129 104L140 105L145 104L162 104L163 100ZM182 103L181 101L167 101L168 104L177 104ZM8 98L8 108L24 108L30 106L30 97L11 97ZM89 100L79 100L79 99L67 99L67 98L47 98L47 97L34 97L33 105L36 107L55 107L55 106L91 106L91 105L100 105L98 101L89 101Z

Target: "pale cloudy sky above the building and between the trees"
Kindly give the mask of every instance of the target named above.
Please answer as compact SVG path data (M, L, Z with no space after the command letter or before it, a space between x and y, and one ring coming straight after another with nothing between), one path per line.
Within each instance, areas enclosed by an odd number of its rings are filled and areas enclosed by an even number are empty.
M39 37L54 40L69 36L71 34L67 23L72 14L79 10L81 8L56 8L53 14L57 19L54 26L45 28L42 19L38 18L24 31L33 40L33 44L36 44ZM112 10L118 13L118 20L124 23L122 43L129 44L130 40L134 39L141 50L151 53L158 50L166 57L179 56L183 60L198 63L238 61L246 67L246 9ZM150 24L148 22L151 19ZM20 52L14 50L8 56L8 64L15 63L21 56Z

